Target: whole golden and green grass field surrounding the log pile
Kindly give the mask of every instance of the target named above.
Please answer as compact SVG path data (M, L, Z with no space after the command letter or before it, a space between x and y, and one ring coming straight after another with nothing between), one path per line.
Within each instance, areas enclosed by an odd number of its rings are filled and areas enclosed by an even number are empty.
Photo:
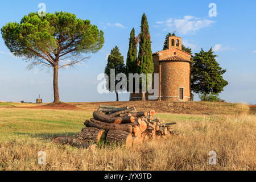
M217 102L69 103L79 109L0 102L0 170L255 170L256 115L248 105ZM98 105L155 109L176 122L183 137L125 148L102 144L95 152L51 143L76 136ZM44 106L44 107L42 107ZM46 152L46 165L38 152ZM217 164L210 165L209 151Z

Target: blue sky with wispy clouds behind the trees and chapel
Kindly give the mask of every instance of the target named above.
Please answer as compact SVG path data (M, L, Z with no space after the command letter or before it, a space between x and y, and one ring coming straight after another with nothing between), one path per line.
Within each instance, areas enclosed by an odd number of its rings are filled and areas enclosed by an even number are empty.
M104 31L105 44L85 63L59 73L60 100L64 102L114 101L115 94L97 93L97 75L104 72L106 57L114 46L127 55L130 31L139 34L141 16L147 15L152 52L160 51L168 32L176 31L192 52L213 47L217 61L227 72L229 85L220 97L229 102L256 104L256 1L3 1L0 27L19 22L24 15L46 4L47 13L67 11L89 19ZM217 16L210 17L209 3ZM11 55L0 38L0 101L53 101L52 71L26 69L28 63ZM128 100L128 94L121 94Z

